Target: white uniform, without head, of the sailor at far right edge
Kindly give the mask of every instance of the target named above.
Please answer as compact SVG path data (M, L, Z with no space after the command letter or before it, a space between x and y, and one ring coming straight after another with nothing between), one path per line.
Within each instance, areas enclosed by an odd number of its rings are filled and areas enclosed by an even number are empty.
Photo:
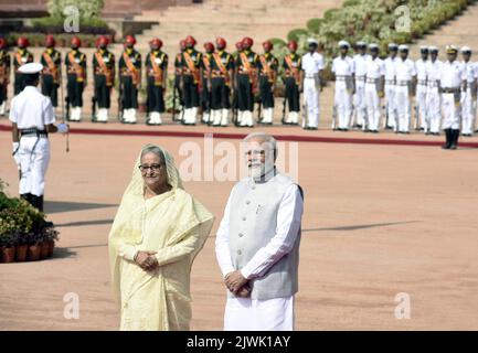
M472 94L476 79L478 78L478 66L476 63L469 61L468 63L463 62L465 79L467 81L466 92L461 92L461 133L471 135L475 131L475 119L476 119L476 92ZM475 100L475 101L474 101Z

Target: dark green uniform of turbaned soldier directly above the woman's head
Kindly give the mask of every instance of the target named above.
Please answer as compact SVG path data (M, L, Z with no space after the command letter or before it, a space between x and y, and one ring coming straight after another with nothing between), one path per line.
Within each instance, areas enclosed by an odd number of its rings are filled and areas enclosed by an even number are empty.
M158 72L155 72L152 62ZM168 71L168 55L161 51L151 51L145 61L147 75L148 111L163 113L164 109L164 85L163 73Z

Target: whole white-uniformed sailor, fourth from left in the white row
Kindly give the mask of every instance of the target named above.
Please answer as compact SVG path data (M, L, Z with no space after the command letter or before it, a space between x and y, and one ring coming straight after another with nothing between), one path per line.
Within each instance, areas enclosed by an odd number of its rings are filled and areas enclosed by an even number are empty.
M367 118L363 130L378 133L381 108L380 99L383 98L385 83L385 65L379 57L379 45L369 45L370 56L365 62L365 106Z

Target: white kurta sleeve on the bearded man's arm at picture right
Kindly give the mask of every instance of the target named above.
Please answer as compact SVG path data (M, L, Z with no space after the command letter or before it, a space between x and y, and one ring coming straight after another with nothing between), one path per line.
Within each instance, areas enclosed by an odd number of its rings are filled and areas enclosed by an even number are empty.
M253 258L241 269L242 275L247 278L263 276L284 255L288 254L296 242L299 233L304 212L304 200L299 188L290 185L277 212L276 235L269 243L258 249Z

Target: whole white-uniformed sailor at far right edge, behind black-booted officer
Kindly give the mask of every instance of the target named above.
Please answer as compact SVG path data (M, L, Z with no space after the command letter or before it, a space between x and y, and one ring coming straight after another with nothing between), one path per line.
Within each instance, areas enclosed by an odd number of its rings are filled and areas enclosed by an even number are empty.
M471 137L475 129L478 67L471 62L471 49L461 47L466 90L461 92L461 136Z

